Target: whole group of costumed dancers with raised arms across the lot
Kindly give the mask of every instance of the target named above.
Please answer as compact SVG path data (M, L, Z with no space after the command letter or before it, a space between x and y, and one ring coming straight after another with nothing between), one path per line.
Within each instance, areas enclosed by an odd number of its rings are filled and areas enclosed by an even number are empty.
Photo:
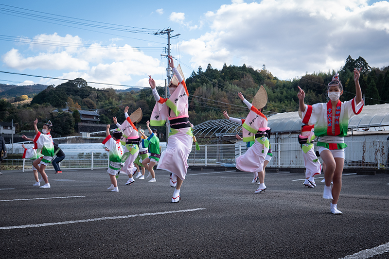
M173 69L174 75L170 82L169 98L159 96L156 83L149 76L149 84L156 104L153 108L150 121L146 125L150 136L145 136L144 131L136 127L141 120L142 113L139 108L131 115L128 115L128 107L124 109L125 121L120 124L114 117L113 121L117 129L110 133L110 125L106 126L106 138L102 142L109 152L109 173L111 186L108 190L117 192L118 184L116 178L119 173L128 176L125 185L135 182L133 174L138 171L137 177L144 179L145 170L149 171L152 178L149 182L155 182L154 166L158 163L157 169L170 172L170 186L175 188L171 199L172 203L180 201L180 189L188 169L188 156L192 150L195 137L192 134L193 125L188 115L188 89L180 69L174 66L173 58L168 56L168 62ZM323 198L330 199L331 213L342 214L337 209L337 201L342 186L341 176L344 164L344 136L347 135L348 121L351 117L359 114L363 107L362 92L359 85L360 69L354 69L354 83L356 96L347 102L340 102L339 98L343 93L343 87L336 74L328 84L327 91L330 101L313 105L304 104L305 92L298 86L299 115L302 119L301 134L299 143L306 168L306 179L304 185L309 188L316 187L316 174L321 173L321 164L314 152L313 141L318 137L318 154L323 160L325 187ZM239 139L248 143L248 150L245 154L236 158L236 168L243 172L254 174L253 183L259 181L259 187L255 193L265 192L265 167L272 157L269 137L271 129L267 126L267 118L262 113L267 103L267 93L263 86L250 104L242 93L238 97L247 105L249 112L245 120L232 118L227 111L223 112L226 119L242 125L243 138ZM169 141L166 150L160 153L157 130L150 126L162 126L170 124ZM41 149L41 158L33 163L34 168L42 175L41 180L45 185L40 188L50 188L45 168L54 155L53 139L50 135L51 123L43 126L42 133L36 127L34 121L35 138L34 148L25 151L23 157L34 157L36 150ZM197 146L197 143L196 143ZM31 154L27 154L31 153ZM150 154L150 155L148 155ZM39 180L35 175L36 184ZM331 188L332 184L332 188Z

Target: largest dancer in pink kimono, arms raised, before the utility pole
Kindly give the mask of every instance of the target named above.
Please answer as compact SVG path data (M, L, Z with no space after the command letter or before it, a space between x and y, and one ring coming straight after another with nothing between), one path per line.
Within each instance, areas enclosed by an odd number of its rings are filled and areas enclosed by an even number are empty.
M174 76L169 85L171 96L168 99L159 97L154 79L149 79L156 104L150 118L150 125L162 126L166 119L170 123L169 140L166 150L162 152L157 169L170 172L170 186L176 188L172 203L178 202L180 188L185 180L188 169L188 156L192 150L193 135L192 124L188 115L188 89L181 68L175 68L173 58L169 58L169 65L173 69Z

